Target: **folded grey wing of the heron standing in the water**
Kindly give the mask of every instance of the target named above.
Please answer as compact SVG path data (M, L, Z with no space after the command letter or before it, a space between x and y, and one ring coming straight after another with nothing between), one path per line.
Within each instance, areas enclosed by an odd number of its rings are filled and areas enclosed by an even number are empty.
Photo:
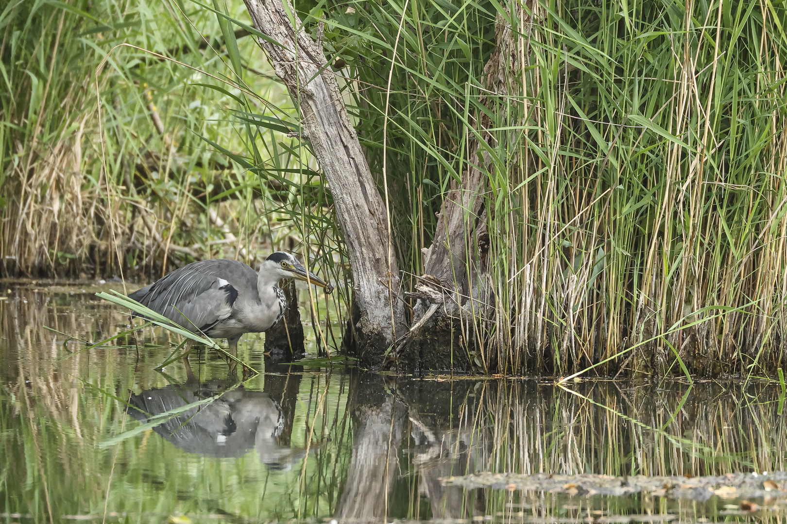
M183 328L205 332L230 317L238 290L227 278L243 272L238 266L246 264L224 259L194 262L129 296Z

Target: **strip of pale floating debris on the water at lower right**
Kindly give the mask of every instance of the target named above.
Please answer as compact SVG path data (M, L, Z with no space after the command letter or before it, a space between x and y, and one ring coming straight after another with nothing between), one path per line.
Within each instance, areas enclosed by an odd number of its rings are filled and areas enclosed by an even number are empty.
M616 477L614 475L516 475L481 473L463 477L441 478L445 485L463 486L467 489L492 488L567 495L608 495L621 497L646 492L656 497L671 499L708 500L714 495L722 499L787 499L787 472L770 474L728 473L719 476L691 477ZM744 502L746 504L744 504ZM744 508L744 506L746 508ZM744 500L741 509L756 511L758 504Z

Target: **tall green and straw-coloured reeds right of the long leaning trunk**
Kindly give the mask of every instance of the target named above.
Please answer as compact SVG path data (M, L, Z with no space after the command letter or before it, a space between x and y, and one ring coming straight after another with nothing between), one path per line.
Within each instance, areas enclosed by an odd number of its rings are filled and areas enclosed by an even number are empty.
M357 101L401 269L423 270L452 184L485 174L482 213L467 217L468 233L480 220L489 234L488 252L467 238L489 272L483 369L577 372L652 337L600 372L749 374L783 360L780 5L301 11L312 34L325 21L329 64Z

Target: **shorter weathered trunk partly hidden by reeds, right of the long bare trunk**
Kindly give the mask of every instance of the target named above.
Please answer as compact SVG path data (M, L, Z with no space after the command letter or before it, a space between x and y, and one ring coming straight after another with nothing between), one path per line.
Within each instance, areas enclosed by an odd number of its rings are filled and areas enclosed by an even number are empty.
M523 18L524 20L524 18ZM518 36L503 16L497 16L497 48L484 66L489 96L481 103L495 111L495 94L510 94L521 69ZM483 141L496 147L496 138L487 129L493 126L488 117L479 115L478 130ZM426 251L424 275L416 284L418 299L414 308L413 327L407 343L397 348L400 365L405 368L467 369L478 365L471 361L471 351L483 343L475 327L479 317L493 311L493 295L485 285L489 251L487 214L482 193L486 187L488 159L477 152L482 142L468 139L470 165L462 174L461 185L452 183L438 215L434 241ZM484 371L493 363L486 362Z

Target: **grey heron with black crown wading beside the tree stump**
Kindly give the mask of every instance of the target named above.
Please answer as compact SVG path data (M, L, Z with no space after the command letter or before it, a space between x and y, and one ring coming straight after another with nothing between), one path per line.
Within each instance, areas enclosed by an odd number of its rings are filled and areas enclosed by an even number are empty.
M128 296L190 332L227 339L237 356L241 335L268 331L284 316L287 300L279 280L290 278L333 291L293 255L276 251L258 272L229 258L201 260Z

